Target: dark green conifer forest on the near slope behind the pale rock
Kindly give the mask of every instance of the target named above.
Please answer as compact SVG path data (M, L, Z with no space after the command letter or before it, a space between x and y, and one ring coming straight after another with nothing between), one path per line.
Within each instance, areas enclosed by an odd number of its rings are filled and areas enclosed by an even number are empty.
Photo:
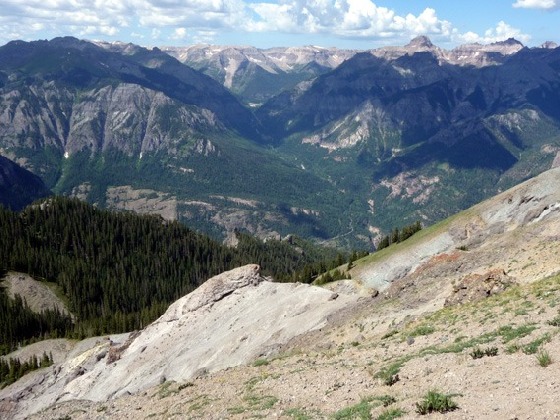
M238 241L226 247L179 222L100 210L76 199L48 198L21 212L0 207L2 272L48 282L75 316L33 313L1 289L0 352L38 338L141 328L209 277L249 262L280 281L311 281L299 277L309 264L324 271L331 260L346 258L294 237L263 243L239 234Z

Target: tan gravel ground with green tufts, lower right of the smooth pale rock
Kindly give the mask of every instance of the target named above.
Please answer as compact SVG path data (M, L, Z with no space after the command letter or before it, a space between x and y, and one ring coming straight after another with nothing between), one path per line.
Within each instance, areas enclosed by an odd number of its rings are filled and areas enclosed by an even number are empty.
M274 357L105 402L55 404L30 418L377 418L387 410L420 418L416 403L431 389L453 394L459 408L429 418L560 418L560 327L549 325L560 320L559 277L411 317L385 333L398 301L370 304ZM492 347L496 356L470 355ZM552 364L539 365L541 352ZM399 379L389 386L383 372L391 367Z

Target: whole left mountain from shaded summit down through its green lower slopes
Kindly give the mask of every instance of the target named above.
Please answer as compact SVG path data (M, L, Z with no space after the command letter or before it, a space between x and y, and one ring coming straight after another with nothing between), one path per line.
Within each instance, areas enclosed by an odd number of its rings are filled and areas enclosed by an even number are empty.
M329 183L260 147L251 111L168 54L17 41L0 48L0 81L0 149L57 193L134 210L156 197L167 218L222 238L286 235L293 219L299 233L336 234L299 216L319 197L326 219L337 217Z

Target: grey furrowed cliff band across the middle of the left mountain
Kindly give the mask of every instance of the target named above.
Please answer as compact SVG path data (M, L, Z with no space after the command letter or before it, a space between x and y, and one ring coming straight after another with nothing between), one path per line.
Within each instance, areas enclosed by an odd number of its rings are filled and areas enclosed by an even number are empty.
M136 84L71 91L54 83L1 97L4 148L53 148L69 157L87 150L127 155L176 151L183 137L225 131L215 114Z

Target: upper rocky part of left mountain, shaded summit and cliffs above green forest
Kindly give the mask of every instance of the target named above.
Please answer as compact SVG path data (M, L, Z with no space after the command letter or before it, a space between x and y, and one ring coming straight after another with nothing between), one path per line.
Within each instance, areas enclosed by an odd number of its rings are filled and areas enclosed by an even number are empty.
M74 38L16 41L0 48L0 63L1 148L51 186L63 156L177 154L193 137L228 130L250 137L256 124L210 78L157 51L125 54Z

